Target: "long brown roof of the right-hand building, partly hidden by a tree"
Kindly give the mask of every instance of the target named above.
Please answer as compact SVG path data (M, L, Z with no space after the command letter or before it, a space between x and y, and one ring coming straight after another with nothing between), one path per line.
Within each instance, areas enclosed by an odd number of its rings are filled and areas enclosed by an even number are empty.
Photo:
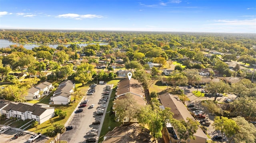
M180 101L178 96L166 93L166 94L159 95L159 98L164 108L166 107L171 108L171 112L174 113L173 115L174 119L183 119L187 121L186 118L191 118L194 120L194 118L192 117L190 112L188 112L186 106L184 106L184 104ZM202 138L208 139L208 137L200 127L198 127L194 135L196 137L202 137Z

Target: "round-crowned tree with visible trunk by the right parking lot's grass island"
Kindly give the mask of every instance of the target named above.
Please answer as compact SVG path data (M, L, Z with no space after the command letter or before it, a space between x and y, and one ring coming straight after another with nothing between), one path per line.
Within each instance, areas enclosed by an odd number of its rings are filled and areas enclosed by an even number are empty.
M216 93L227 93L230 91L230 86L226 82L210 82L210 86L206 87L206 90L209 91L212 95L214 95L214 101L217 99Z

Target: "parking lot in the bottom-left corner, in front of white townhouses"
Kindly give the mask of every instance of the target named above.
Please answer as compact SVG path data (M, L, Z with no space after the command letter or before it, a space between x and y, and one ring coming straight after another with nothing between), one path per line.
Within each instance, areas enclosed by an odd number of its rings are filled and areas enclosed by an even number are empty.
M10 129L5 133L0 135L0 143L28 143L28 139L32 136L30 133L24 133L22 136L18 137L18 139L14 138L14 135L20 131L15 129ZM27 131L26 131L27 132ZM48 139L44 137L39 137L34 141L34 143L45 143Z

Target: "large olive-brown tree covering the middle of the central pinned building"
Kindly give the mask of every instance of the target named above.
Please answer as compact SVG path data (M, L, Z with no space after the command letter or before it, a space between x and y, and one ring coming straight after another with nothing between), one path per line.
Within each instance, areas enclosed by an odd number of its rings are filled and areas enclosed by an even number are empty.
M128 122L137 118L138 112L140 112L140 106L134 100L131 94L125 94L123 99L117 99L114 101L114 112L118 121L124 123L124 119L128 118Z

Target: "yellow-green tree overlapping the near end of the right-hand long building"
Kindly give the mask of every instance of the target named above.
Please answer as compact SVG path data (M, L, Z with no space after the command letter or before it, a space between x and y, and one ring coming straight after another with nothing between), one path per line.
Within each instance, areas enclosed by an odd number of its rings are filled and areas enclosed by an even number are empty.
M180 141L182 139L185 141L188 139L196 139L194 134L198 129L198 125L194 119L186 118L186 121L173 119L172 125L177 129Z

